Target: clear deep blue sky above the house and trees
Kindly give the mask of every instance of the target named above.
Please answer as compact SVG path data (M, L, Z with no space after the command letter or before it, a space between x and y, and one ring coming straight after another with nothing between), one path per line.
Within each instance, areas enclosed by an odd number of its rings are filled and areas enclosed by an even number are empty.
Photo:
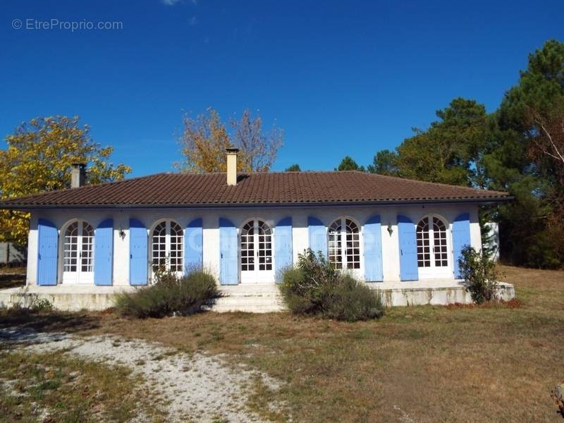
M0 12L0 135L78 115L133 176L172 170L183 112L209 106L282 128L274 170L332 169L345 154L369 164L454 97L493 111L527 54L564 39L561 0L8 0Z

